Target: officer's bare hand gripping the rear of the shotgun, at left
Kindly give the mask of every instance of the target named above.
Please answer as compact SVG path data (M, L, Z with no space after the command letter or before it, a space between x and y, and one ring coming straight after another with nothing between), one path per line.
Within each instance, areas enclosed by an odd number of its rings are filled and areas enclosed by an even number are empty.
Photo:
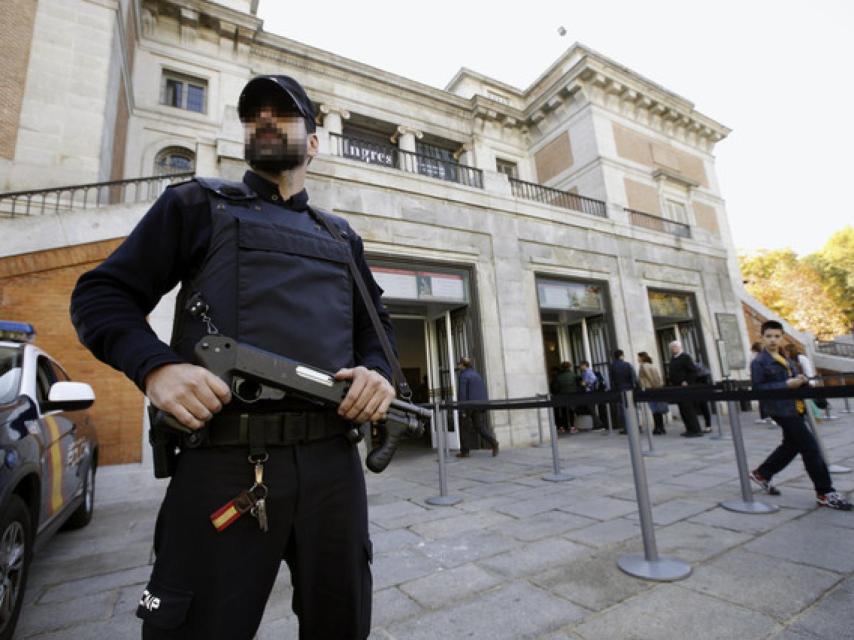
M186 427L198 429L231 402L221 379L193 364L166 364L145 376L145 395Z

